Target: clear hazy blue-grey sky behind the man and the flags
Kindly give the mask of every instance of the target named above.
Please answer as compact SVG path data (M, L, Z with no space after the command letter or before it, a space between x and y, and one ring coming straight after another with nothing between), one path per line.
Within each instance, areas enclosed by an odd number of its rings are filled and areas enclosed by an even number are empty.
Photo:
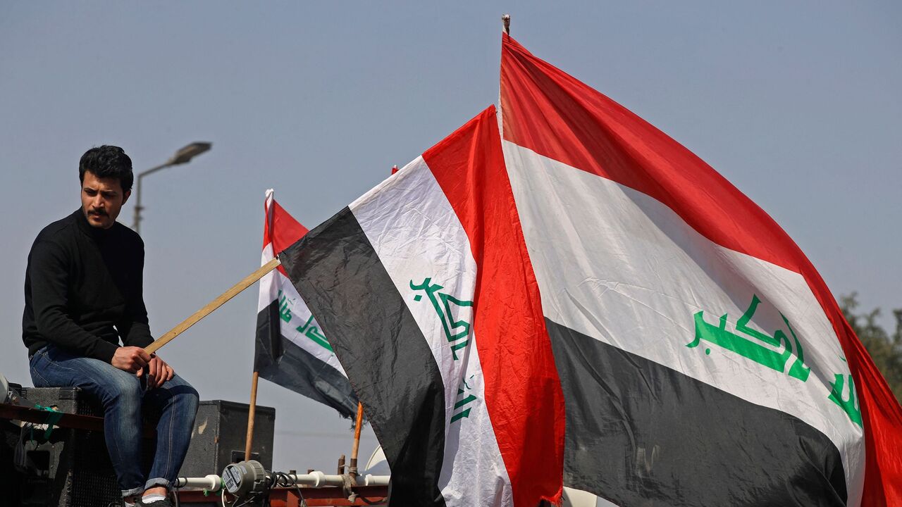
M265 189L312 228L495 102L508 12L530 51L764 207L834 295L902 307L898 2L445 4L0 4L0 373L30 383L26 256L78 207L87 148L122 146L140 171L213 143L144 180L159 336L258 265ZM162 349L204 399L247 401L256 298ZM331 470L350 454L330 410L265 382L260 402L278 410L277 468ZM364 462L373 447L368 432Z

